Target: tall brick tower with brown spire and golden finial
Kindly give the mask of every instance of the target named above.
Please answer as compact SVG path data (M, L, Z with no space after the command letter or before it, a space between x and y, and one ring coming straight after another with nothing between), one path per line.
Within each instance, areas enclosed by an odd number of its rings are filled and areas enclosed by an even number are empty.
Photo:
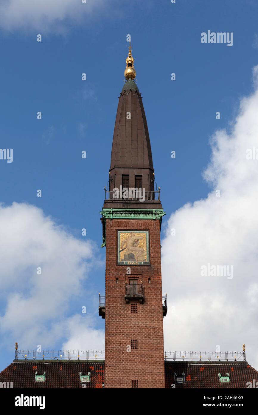
M160 227L145 111L129 46L101 212L106 246L105 388L164 388Z

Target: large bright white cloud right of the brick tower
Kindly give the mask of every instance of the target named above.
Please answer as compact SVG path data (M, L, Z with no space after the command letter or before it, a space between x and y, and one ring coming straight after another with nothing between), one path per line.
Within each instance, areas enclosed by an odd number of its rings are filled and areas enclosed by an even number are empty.
M258 66L255 92L243 98L230 132L212 137L204 172L213 190L169 218L162 241L166 350L237 351L246 344L249 364L258 369ZM220 190L216 197L215 190ZM176 235L171 236L171 228ZM202 265L233 265L233 278L200 276Z

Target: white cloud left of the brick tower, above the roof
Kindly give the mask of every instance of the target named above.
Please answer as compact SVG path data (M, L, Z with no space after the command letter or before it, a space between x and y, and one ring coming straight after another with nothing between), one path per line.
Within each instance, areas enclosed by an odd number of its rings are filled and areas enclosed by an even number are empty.
M79 314L85 304L78 305L76 315L69 315L71 301L81 294L91 267L94 244L76 239L41 209L25 203L0 205L0 229L2 339L9 345L10 339L17 339L21 347L35 349L38 344L59 348L58 342L64 338L69 342L75 332L79 338L80 330L85 341L101 338L101 332L92 329L92 317ZM86 293L85 298L87 305ZM88 347L87 342L81 347Z

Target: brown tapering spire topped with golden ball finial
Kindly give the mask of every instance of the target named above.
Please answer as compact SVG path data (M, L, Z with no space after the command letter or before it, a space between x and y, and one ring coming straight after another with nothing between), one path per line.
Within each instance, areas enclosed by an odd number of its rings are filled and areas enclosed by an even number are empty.
M124 75L126 82L119 98L113 135L109 190L123 186L123 177L128 176L129 187L134 188L136 177L141 177L142 188L153 192L152 150L142 97L134 81L136 71L131 46Z

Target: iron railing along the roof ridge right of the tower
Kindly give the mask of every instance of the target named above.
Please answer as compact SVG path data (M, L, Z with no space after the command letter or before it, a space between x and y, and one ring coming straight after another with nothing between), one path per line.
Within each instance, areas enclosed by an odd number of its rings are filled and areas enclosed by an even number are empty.
M165 360L246 361L246 352L164 352Z

